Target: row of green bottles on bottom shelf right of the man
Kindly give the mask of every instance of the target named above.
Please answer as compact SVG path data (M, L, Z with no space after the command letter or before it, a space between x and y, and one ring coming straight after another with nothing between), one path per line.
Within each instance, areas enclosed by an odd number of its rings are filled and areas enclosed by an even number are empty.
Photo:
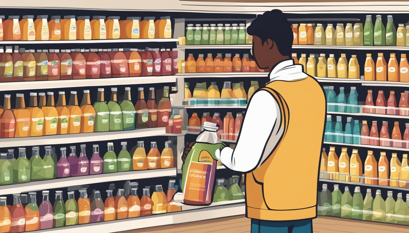
M348 186L342 193L338 184L334 184L332 193L327 184L323 184L322 191L318 192L318 215L409 225L408 213L409 194L406 194L405 203L402 193L398 193L395 201L393 191L388 191L387 199L384 200L379 189L376 190L375 198L372 197L371 189L366 189L364 198L359 186L355 187L353 196Z

